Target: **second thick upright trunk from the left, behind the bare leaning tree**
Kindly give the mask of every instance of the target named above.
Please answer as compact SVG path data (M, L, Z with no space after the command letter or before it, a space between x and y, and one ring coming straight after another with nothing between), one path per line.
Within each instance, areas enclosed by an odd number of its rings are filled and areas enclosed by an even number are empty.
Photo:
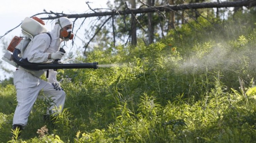
M154 6L154 0L147 0L147 4L149 6ZM153 21L153 17L152 17L152 12L148 13L148 42L149 44L153 43L153 39L154 39L154 28L152 25L152 21Z

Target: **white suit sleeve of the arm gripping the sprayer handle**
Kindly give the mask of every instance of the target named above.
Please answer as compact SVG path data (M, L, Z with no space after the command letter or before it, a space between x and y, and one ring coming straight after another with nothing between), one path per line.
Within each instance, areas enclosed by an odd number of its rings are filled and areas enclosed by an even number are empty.
M49 48L50 42L51 38L48 34L36 35L26 48L23 58L28 58L28 61L33 63L47 62L49 53L46 51Z

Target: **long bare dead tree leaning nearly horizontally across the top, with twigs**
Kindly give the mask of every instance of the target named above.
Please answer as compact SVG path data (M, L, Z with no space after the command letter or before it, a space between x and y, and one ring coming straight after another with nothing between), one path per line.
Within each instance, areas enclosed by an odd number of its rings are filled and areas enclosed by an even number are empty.
M105 12L97 12L95 11L95 9L92 9L90 7L90 5L88 4L88 2L86 3L88 5L88 7L94 11L94 13L82 13L82 14L70 14L67 15L63 12L58 13L58 12L53 12L53 11L46 11L44 10L44 12L42 13L37 13L36 15L33 16L38 16L38 15L48 15L48 17L43 17L41 18L42 20L54 20L60 17L68 17L68 18L75 18L75 21L78 18L87 18L87 17L99 17L99 19L103 16L110 16L105 22L104 24L112 17L112 25L113 25L113 21L114 21L114 16L115 15L128 15L131 14L135 17L135 15L137 13L148 13L148 12L158 12L160 16L165 16L163 14L163 11L168 12L168 11L177 11L177 10L186 10L186 9L199 9L199 8L222 8L222 7L241 7L241 6L246 6L246 7L252 7L252 6L256 6L256 1L255 0L240 0L240 1L232 1L232 2L205 2L205 3L189 3L189 4L180 4L180 5L165 5L165 6L149 6L147 8L139 8L139 9L129 9L126 8L124 10L121 11L116 11L116 10L112 10L112 11L105 11ZM145 5L145 4L144 4ZM148 5L146 5L148 6ZM177 12L179 14L179 12ZM31 17L33 17L31 16ZM201 15L202 16L202 15ZM183 17L182 17L183 18ZM143 31L146 31L143 26L141 25L141 23L139 22L139 20L135 17L136 21L139 23L140 27L143 29ZM184 18L183 18L184 19ZM185 20L185 19L184 19ZM73 22L73 24L75 23L75 21ZM84 20L85 21L85 20ZM83 22L84 22L83 21ZM186 21L186 20L185 20ZM82 23L83 24L83 23ZM95 32L95 34L93 35L93 37L90 39L90 41L95 37L95 35L99 32L99 30L104 26L104 24L101 25L101 27ZM189 24L189 23L188 23ZM19 27L21 25L21 23L16 26L15 28ZM189 24L190 25L190 24ZM191 26L191 25L190 25ZM80 26L81 27L81 26ZM79 27L79 29L80 29ZM191 26L192 27L192 26ZM10 33L12 30L14 30L15 28L7 31L3 36L5 36L6 34ZM114 27L113 27L114 28ZM73 31L73 29L72 29ZM78 31L78 30L77 30ZM77 33L76 31L76 33ZM115 42L115 31L113 29L113 34L114 34L114 42ZM0 39L3 37L0 36ZM130 37L130 35L129 35ZM128 38L129 39L129 38ZM89 42L87 42L87 44L84 46L85 51L86 48L89 45ZM128 41L128 40L127 40ZM72 42L73 44L73 42Z

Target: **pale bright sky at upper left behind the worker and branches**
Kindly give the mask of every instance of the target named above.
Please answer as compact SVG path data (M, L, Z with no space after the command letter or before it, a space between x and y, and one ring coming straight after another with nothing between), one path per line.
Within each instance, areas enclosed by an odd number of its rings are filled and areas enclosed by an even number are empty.
M86 2L89 1L91 8L107 8L107 2L108 0L4 0L1 1L0 6L0 18L1 18L1 28L0 28L0 36L4 35L7 31L13 29L14 27L18 26L25 17L31 17L37 13L43 12L45 9L46 11L53 11L53 12L59 12L66 14L76 14L76 13L89 13L91 10L89 10L88 5ZM113 0L110 0L113 1ZM45 16L38 16L45 17ZM71 19L73 21L74 19ZM76 24L79 25L83 19L78 19L76 21ZM90 19L88 19L87 22L89 22ZM53 28L55 21L44 21L45 26L49 31ZM75 26L77 26L75 25ZM86 24L84 24L86 26ZM77 26L78 27L78 26ZM8 33L4 36L5 40L12 40L14 36L20 36L21 35L21 28L20 26L13 30L12 32ZM83 39L84 36L84 30L83 27L81 30L78 31L78 37ZM1 39L0 39L1 40ZM79 39L76 41L76 45L82 45L83 42ZM7 47L6 47L7 49ZM2 49L1 49L2 50ZM81 51L83 52L83 51ZM15 67L6 63L1 58L4 53L1 52L0 54L0 60L2 61L2 64L7 67L8 69L11 69L12 71L15 71ZM4 73L0 70L0 80L5 79L5 77L10 77L12 74Z

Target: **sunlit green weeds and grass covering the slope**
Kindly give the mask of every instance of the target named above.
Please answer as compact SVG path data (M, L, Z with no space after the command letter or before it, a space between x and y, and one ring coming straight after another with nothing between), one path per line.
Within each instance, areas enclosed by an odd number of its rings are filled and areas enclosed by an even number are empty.
M15 87L2 81L0 142L254 142L256 13L208 19L78 57L114 66L58 70L64 110L45 124L50 99L37 100L21 139L11 138Z

